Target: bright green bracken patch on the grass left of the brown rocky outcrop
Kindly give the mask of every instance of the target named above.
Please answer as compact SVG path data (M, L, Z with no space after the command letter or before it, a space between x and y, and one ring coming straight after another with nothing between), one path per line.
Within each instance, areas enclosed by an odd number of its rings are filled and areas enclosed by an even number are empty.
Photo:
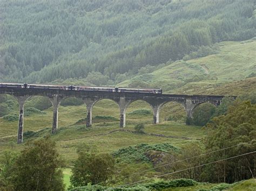
M179 148L172 146L170 143L161 143L155 145L149 144L138 144L135 146L129 146L125 148L120 148L117 151L114 151L112 154L115 158L120 158L120 161L125 162L150 162L150 159L146 157L146 151L161 151L161 152L169 152L179 151Z

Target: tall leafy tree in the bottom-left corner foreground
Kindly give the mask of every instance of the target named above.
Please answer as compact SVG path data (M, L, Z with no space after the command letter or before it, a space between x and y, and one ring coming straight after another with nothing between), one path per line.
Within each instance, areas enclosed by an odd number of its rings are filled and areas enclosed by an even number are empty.
M62 164L55 142L36 140L17 158L11 182L16 190L65 190Z

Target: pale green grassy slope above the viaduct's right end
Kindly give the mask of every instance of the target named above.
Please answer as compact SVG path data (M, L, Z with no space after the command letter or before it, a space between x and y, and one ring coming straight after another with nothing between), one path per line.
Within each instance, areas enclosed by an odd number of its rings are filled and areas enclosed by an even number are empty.
M212 94L217 88L234 80L245 79L256 69L256 40L219 43L220 53L203 58L176 61L150 74L143 74L119 83L128 86L133 80L143 80L151 86L162 87L164 93ZM208 74L206 74L206 70ZM205 80L185 84L188 77L204 76ZM179 85L177 85L179 84ZM255 80L254 80L255 87ZM219 94L223 94L217 91Z

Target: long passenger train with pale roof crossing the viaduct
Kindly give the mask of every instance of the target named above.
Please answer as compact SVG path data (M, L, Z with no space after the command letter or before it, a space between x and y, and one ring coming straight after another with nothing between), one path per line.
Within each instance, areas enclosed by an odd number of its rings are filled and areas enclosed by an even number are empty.
M152 88L71 86L71 85L55 85L55 84L37 84L37 83L0 82L0 87L27 88L27 89L59 89L59 90L74 90L74 91L109 91L109 92L117 92L117 93L150 93L150 94L162 93L161 88L152 89Z

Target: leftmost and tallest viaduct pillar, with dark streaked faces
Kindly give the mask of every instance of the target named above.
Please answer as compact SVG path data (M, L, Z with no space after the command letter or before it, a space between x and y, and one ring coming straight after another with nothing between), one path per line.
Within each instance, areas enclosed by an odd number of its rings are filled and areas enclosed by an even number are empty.
M18 137L17 144L21 144L23 142L23 118L24 118L24 103L28 97L20 96L17 98L19 103L19 123L18 123Z

